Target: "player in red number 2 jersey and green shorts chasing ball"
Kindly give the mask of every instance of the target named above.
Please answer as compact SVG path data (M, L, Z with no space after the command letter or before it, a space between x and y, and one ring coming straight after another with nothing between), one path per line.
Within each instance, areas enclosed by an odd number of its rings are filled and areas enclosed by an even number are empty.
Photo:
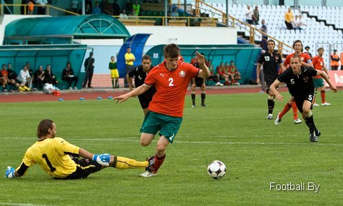
M184 99L189 82L193 77L206 79L210 71L205 64L205 58L196 52L197 63L200 68L179 61L180 49L176 44L168 44L164 47L164 62L155 66L143 85L130 93L114 97L117 102L125 102L128 98L140 95L155 85L157 93L152 97L149 104L149 112L141 127L141 145L148 146L159 131L155 157L148 161L155 160L152 167L148 167L142 177L151 177L157 174L166 157L166 147L173 143L177 131L182 123L184 113Z

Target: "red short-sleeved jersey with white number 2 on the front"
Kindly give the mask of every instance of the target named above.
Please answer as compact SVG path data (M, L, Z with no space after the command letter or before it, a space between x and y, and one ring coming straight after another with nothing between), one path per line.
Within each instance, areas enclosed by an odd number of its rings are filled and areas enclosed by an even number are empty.
M156 113L182 118L184 114L184 99L189 82L196 77L200 69L187 62L177 62L177 68L168 71L166 61L155 66L144 81L155 85L157 92L148 109Z

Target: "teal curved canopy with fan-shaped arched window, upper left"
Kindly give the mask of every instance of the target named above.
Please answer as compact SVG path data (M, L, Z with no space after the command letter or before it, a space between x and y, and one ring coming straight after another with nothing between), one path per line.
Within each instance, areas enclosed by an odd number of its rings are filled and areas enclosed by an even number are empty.
M6 26L5 40L40 38L127 39L130 33L109 15L79 15L17 19Z

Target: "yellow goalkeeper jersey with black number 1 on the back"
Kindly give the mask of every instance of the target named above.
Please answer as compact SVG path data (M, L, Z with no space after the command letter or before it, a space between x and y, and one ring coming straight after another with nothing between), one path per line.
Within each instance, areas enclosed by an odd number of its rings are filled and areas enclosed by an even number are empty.
M28 167L38 164L49 176L65 178L76 171L76 163L71 160L69 154L78 156L79 150L80 147L62 138L39 140L26 150L17 172L23 175Z

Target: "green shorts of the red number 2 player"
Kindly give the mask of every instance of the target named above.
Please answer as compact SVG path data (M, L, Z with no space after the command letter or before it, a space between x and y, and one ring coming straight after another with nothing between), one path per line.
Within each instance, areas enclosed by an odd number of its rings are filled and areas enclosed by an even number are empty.
M175 135L182 123L182 118L175 118L161 113L148 111L144 118L141 133L164 135L170 143L173 143Z

